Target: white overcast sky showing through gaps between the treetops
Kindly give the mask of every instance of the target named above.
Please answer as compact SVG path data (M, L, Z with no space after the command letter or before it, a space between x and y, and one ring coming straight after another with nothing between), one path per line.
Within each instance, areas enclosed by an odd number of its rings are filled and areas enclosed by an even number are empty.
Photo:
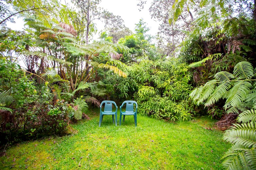
M67 0L68 2L69 0ZM148 0L142 11L139 11L139 7L137 6L138 0L101 0L99 6L101 8L106 9L109 12L112 12L114 15L119 15L124 20L124 24L131 31L134 32L135 24L139 23L140 19L143 19L146 22L147 27L150 28L148 34L154 36L158 31L157 22L153 21L150 17L150 13L148 11L149 6L152 0ZM64 0L61 0L62 3L65 3ZM23 30L24 22L22 18L14 17L16 23L7 22L7 27L10 27L14 30ZM104 23L96 22L96 27L99 31L104 29ZM98 37L97 33L97 37Z

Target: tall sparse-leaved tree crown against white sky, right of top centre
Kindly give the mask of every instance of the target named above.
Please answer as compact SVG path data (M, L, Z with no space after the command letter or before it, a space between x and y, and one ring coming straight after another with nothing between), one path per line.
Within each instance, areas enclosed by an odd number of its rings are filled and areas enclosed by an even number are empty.
M149 2L139 0L138 6L143 9L146 3ZM160 22L157 46L159 49L165 49L165 55L171 55L184 39L185 32L190 30L191 16L188 13L182 13L179 18L180 22L177 22L175 26L169 24L169 13L174 3L175 0L153 0L149 7L151 18Z

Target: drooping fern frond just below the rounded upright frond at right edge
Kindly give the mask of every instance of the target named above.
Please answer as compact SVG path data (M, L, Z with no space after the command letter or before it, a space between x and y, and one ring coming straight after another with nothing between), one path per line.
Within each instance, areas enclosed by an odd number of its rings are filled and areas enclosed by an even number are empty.
M250 82L239 81L234 84L230 89L227 95L227 100L224 105L225 109L233 106L236 107L241 103L249 93L250 88L252 87Z

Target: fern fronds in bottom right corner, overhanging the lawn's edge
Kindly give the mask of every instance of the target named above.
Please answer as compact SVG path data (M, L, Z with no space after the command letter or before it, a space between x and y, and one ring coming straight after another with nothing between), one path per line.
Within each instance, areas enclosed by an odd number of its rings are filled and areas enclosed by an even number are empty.
M256 169L256 110L246 110L237 118L241 124L233 124L226 130L224 140L232 147L222 157L225 169Z

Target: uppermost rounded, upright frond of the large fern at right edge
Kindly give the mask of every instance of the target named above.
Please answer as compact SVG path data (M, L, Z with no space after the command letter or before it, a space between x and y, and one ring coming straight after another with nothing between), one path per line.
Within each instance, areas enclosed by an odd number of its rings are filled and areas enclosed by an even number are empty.
M241 61L235 65L233 73L238 80L251 79L254 74L254 69L251 63Z

